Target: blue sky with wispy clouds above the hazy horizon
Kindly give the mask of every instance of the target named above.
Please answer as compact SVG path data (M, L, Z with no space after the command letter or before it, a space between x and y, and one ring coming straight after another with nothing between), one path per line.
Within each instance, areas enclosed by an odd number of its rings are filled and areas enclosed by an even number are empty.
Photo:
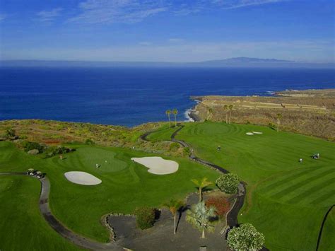
M333 0L1 0L0 60L334 63Z

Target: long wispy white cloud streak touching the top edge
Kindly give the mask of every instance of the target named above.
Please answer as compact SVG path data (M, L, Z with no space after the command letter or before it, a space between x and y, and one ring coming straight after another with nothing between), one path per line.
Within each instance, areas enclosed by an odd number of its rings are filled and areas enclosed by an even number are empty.
M78 5L75 23L138 23L144 18L170 11L186 16L213 8L242 8L289 0L192 0L187 4L169 0L85 0Z

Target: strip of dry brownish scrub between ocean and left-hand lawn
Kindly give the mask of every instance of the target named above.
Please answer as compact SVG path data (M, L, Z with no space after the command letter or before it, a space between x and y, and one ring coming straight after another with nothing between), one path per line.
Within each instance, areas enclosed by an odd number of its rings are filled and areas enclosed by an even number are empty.
M41 119L4 120L0 122L0 140L6 139L6 129L15 129L19 139L47 145L85 144L87 139L101 146L118 146L170 156L182 156L182 147L172 148L169 141L143 141L140 136L158 129L162 123L141 124L137 127L118 127L104 124L58 122Z

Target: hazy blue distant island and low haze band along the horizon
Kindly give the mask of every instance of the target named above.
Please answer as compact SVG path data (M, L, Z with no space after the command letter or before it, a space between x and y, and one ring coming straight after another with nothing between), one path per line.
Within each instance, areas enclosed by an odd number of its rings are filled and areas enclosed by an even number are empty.
M4 60L0 67L222 67L222 68L335 68L334 63L310 63L283 59L233 57L202 62L114 62L114 61L61 61L61 60Z

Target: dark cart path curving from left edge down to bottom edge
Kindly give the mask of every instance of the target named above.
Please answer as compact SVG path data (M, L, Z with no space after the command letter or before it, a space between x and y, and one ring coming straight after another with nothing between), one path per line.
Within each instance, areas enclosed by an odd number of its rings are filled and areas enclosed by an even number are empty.
M0 175L23 175L23 176L29 176L25 173L0 173ZM37 179L37 177L34 177ZM47 177L44 177L40 180L42 184L42 189L40 193L40 211L45 218L45 221L49 223L49 225L61 236L66 238L67 240L70 240L71 243L74 243L78 245L79 247L83 247L89 250L123 250L122 247L117 245L117 243L98 243L94 240L90 240L88 238L85 238L81 235L78 235L74 233L73 231L66 228L57 218L52 215L52 212L49 207L49 192L50 192L50 182Z

